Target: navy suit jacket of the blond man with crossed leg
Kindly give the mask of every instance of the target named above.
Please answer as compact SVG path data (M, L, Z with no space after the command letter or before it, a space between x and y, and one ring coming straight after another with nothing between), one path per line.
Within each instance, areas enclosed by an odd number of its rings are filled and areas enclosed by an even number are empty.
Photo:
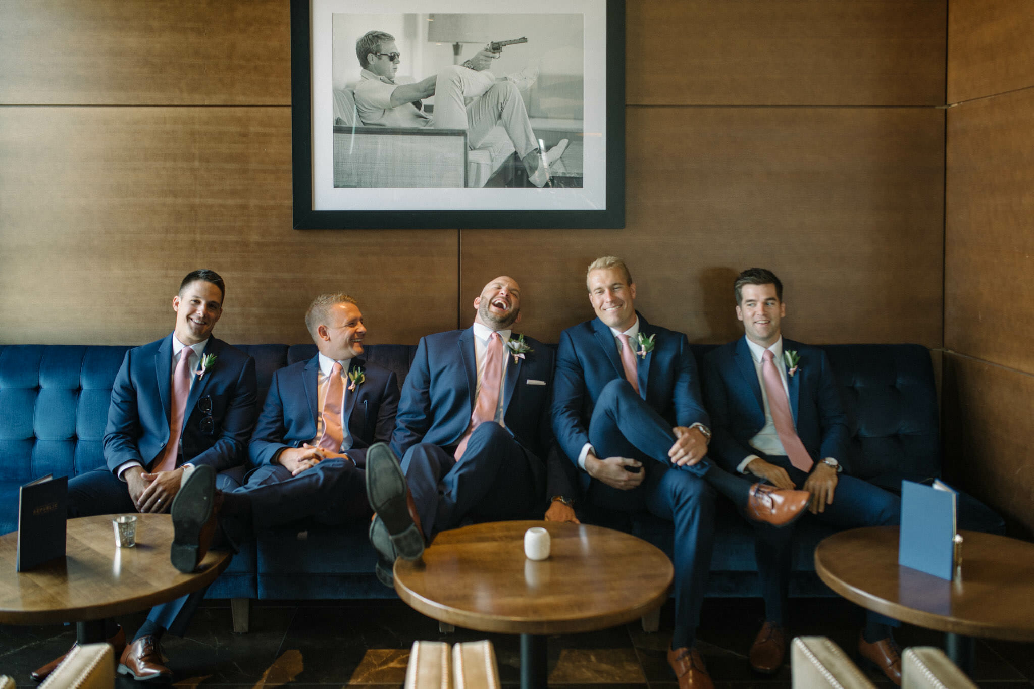
M700 403L697 363L681 333L652 325L639 316L639 332L653 339L653 351L637 361L639 395L672 427L709 426ZM599 318L560 334L553 383L553 432L564 452L578 461L588 442L588 425L596 401L612 380L625 379L614 334Z

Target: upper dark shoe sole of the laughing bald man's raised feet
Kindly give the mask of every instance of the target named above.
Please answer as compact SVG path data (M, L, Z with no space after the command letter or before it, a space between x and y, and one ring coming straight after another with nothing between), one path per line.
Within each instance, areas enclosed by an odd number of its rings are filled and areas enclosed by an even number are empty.
M405 475L395 453L384 443L371 445L366 450L366 497L370 507L388 529L396 555L403 560L418 560L424 554L424 538L409 516L405 496Z

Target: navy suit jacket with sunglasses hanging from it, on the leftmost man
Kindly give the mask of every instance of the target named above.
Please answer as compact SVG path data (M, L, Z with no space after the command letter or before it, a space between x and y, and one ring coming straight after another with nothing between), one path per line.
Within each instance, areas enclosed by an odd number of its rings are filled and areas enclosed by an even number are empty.
M183 457L178 462L223 471L244 461L255 420L255 363L214 337L209 338L204 353L215 354L216 361L190 387L180 436ZM150 468L169 443L172 373L171 334L126 352L112 386L104 429L104 459L113 472L130 460ZM203 396L212 400L215 426L211 433L201 430L206 415L197 408L197 400Z

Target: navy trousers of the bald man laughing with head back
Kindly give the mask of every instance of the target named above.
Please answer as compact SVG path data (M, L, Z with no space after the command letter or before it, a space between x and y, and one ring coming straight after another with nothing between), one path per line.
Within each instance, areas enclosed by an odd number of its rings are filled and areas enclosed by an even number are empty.
M467 516L478 522L542 519L545 500L530 466L539 460L506 429L494 421L479 426L459 462L451 449L417 443L401 462L428 541Z

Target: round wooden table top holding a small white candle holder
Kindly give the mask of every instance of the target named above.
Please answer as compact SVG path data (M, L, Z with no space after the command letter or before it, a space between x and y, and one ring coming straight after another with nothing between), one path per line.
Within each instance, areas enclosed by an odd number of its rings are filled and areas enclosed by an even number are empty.
M524 557L524 532L544 527L550 557ZM493 522L443 531L422 560L395 562L395 590L442 622L514 634L604 629L668 597L673 568L644 540L601 527Z

